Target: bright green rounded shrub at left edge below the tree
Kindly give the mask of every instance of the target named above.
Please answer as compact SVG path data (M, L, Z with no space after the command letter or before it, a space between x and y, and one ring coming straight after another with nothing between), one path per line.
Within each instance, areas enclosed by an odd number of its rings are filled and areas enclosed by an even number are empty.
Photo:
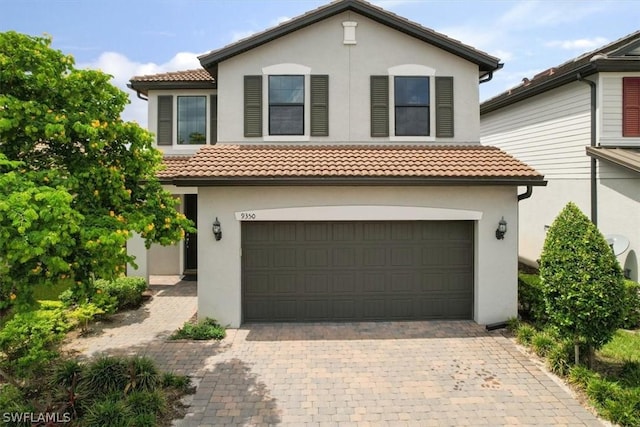
M0 330L0 361L19 375L37 372L57 356L56 345L71 328L64 311L58 308L19 312Z

